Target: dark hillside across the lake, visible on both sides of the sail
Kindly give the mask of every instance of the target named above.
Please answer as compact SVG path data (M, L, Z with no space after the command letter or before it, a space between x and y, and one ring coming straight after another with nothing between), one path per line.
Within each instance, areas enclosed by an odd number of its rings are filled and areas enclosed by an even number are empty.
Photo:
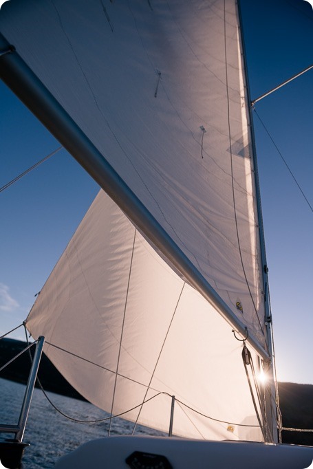
M25 345L25 342L19 340L0 340L0 367L23 350ZM30 356L28 352L25 352L1 372L0 378L25 383L29 371ZM39 379L45 391L84 399L58 373L44 354L39 368ZM287 428L313 428L313 385L279 382L278 386L283 426ZM283 431L282 436L283 443L313 446L313 433Z

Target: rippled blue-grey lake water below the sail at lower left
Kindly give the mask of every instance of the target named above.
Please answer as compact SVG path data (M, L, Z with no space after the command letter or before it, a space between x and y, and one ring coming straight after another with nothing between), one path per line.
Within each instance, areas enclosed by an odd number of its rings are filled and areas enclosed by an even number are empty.
M17 424L25 386L0 379L0 423ZM107 417L99 408L70 397L47 393L54 405L65 414L76 419L92 420ZM34 389L30 415L26 426L24 443L31 446L25 449L23 467L25 469L53 468L56 460L80 444L99 437L107 436L108 422L97 424L78 424L63 417L54 410L40 389ZM130 434L131 422L113 419L111 435ZM136 434L160 435L156 430L142 426L136 428ZM12 434L1 434L0 440L12 438Z

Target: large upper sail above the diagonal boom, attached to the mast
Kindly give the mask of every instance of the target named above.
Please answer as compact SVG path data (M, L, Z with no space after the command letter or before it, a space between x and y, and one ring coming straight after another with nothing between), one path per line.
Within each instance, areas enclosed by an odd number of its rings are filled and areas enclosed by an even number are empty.
M235 1L12 0L0 26L266 347Z

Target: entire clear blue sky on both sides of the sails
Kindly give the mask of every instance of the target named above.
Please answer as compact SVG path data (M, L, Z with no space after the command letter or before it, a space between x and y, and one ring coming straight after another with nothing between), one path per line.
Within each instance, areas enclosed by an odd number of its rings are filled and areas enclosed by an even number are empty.
M251 98L313 64L304 0L241 0ZM255 106L313 205L313 69ZM313 384L313 213L255 115L277 375ZM0 83L0 186L58 148ZM64 150L0 193L0 334L27 316L98 192ZM19 329L13 338L23 339Z

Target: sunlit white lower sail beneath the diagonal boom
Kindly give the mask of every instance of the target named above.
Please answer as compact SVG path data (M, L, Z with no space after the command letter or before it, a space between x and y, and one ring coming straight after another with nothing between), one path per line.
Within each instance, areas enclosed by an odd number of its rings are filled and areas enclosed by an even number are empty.
M168 431L175 395L174 434L262 439L241 342L102 191L27 327L45 336L67 380L113 415L135 407L125 418Z

